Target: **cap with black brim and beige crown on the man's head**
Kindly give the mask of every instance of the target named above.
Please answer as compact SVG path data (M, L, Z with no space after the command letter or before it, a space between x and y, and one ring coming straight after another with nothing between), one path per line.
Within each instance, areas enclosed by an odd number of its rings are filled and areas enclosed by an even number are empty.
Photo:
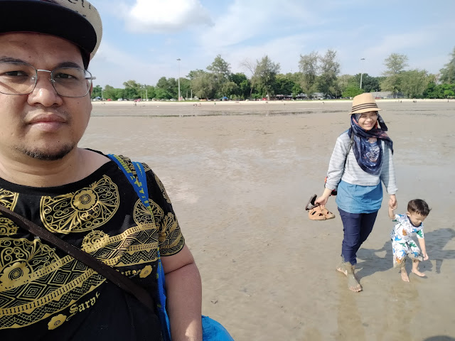
M87 0L0 0L0 33L39 32L58 36L93 58L100 47L102 23Z

